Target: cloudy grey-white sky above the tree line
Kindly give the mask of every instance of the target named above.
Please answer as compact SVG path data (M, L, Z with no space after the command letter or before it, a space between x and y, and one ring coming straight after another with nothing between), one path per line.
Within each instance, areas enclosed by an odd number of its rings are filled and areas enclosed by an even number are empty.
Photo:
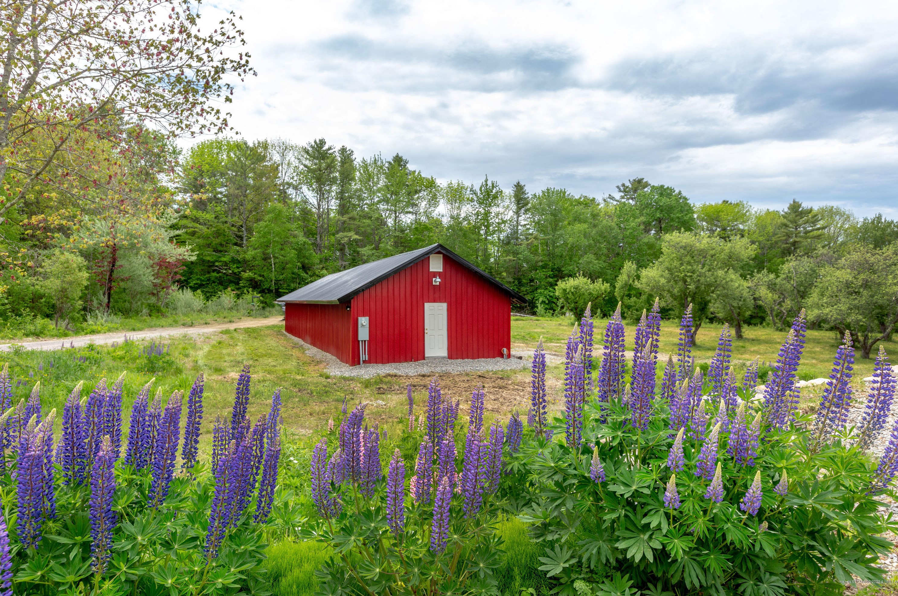
M438 180L898 217L898 3L224 0L233 126Z

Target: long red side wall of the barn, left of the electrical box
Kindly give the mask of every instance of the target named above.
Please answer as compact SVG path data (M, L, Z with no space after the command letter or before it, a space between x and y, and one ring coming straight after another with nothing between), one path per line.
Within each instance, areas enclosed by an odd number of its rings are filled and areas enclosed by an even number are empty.
M347 306L347 304L287 303L284 312L284 330L349 364L349 358L352 357L351 338L354 337L355 329L352 327L354 321L352 312L347 310ZM350 333L350 330L353 333Z

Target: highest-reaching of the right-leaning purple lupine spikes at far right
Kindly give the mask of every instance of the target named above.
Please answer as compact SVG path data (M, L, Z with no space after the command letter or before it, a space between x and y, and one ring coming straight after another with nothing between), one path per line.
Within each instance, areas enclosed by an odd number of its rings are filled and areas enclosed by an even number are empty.
M771 426L787 426L795 415L798 364L805 349L805 310L802 309L789 330L786 341L779 348L777 364L764 386L764 415Z

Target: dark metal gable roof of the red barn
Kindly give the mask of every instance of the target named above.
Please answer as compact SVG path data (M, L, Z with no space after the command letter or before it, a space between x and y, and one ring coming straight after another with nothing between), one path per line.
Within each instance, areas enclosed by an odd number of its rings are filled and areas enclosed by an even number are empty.
M462 267L466 267L483 277L490 284L497 286L497 288L511 296L515 302L527 302L524 296L518 294L485 271L474 267L442 244L431 244L423 249L410 250L409 252L403 252L401 255L365 263L365 265L352 267L346 271L331 273L330 276L321 277L321 279L317 279L309 285L304 285L298 290L286 294L286 296L281 296L277 299L277 302L306 302L312 304L348 302L356 294L361 294L372 285L379 284L387 277L399 273L402 269L414 265L419 260L425 259L437 251L455 260Z

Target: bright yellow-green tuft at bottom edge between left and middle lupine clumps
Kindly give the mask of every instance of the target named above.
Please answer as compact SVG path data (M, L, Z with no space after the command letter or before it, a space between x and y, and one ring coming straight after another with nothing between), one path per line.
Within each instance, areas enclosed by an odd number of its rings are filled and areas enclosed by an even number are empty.
M267 554L265 566L272 592L277 596L312 596L320 582L315 571L333 551L321 542L285 540L270 546Z

